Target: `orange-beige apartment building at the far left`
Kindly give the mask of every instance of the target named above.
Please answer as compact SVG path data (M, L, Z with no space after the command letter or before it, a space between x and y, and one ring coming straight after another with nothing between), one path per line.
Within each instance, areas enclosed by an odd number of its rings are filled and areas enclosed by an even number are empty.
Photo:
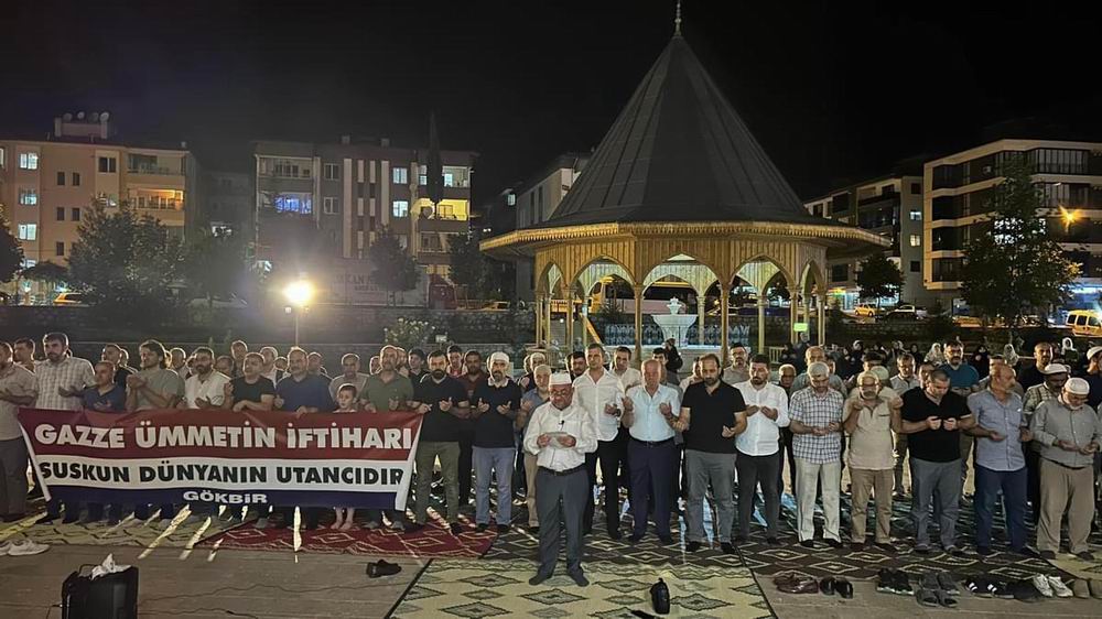
M197 167L186 143L129 143L108 112L66 113L42 137L0 138L0 205L26 265L65 264L94 205L129 206L182 237Z

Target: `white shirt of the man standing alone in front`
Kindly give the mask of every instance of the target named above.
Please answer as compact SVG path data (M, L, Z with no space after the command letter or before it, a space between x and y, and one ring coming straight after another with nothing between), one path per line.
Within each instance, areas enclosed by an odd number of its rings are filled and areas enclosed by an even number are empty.
M547 447L537 444L541 434L565 432L574 437L573 447L562 447L554 439ZM571 403L559 410L548 402L532 411L525 433L525 450L536 455L537 466L551 470L570 470L585 464L585 454L597 450L597 430L593 415Z

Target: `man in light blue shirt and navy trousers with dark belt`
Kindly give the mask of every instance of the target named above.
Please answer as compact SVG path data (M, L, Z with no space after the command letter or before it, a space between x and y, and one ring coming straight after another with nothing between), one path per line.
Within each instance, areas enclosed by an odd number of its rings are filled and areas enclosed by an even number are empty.
M620 423L628 428L627 459L631 471L631 515L635 529L629 540L636 543L647 533L650 497L655 499L655 530L663 545L673 543L670 535L671 490L677 452L673 423L681 413L678 392L661 383L662 366L658 359L642 363L644 383L633 387L624 401Z

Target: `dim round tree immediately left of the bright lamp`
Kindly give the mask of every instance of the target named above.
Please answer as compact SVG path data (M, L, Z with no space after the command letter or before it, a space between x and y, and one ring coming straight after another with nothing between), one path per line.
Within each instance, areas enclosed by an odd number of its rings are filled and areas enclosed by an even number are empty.
M204 230L187 246L184 278L192 296L207 300L245 296L250 278L245 263L245 246L235 235Z

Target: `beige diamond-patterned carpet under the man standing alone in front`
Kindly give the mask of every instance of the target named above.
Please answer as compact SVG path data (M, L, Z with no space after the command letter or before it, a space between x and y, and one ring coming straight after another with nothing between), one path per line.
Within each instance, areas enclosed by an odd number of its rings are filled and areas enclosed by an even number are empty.
M584 564L590 586L564 573L532 587L529 561L433 561L393 610L395 619L441 617L634 617L652 611L650 586L659 577L670 588L666 617L773 617L765 596L745 568L681 565L655 567L623 563ZM560 566L560 572L564 569Z

